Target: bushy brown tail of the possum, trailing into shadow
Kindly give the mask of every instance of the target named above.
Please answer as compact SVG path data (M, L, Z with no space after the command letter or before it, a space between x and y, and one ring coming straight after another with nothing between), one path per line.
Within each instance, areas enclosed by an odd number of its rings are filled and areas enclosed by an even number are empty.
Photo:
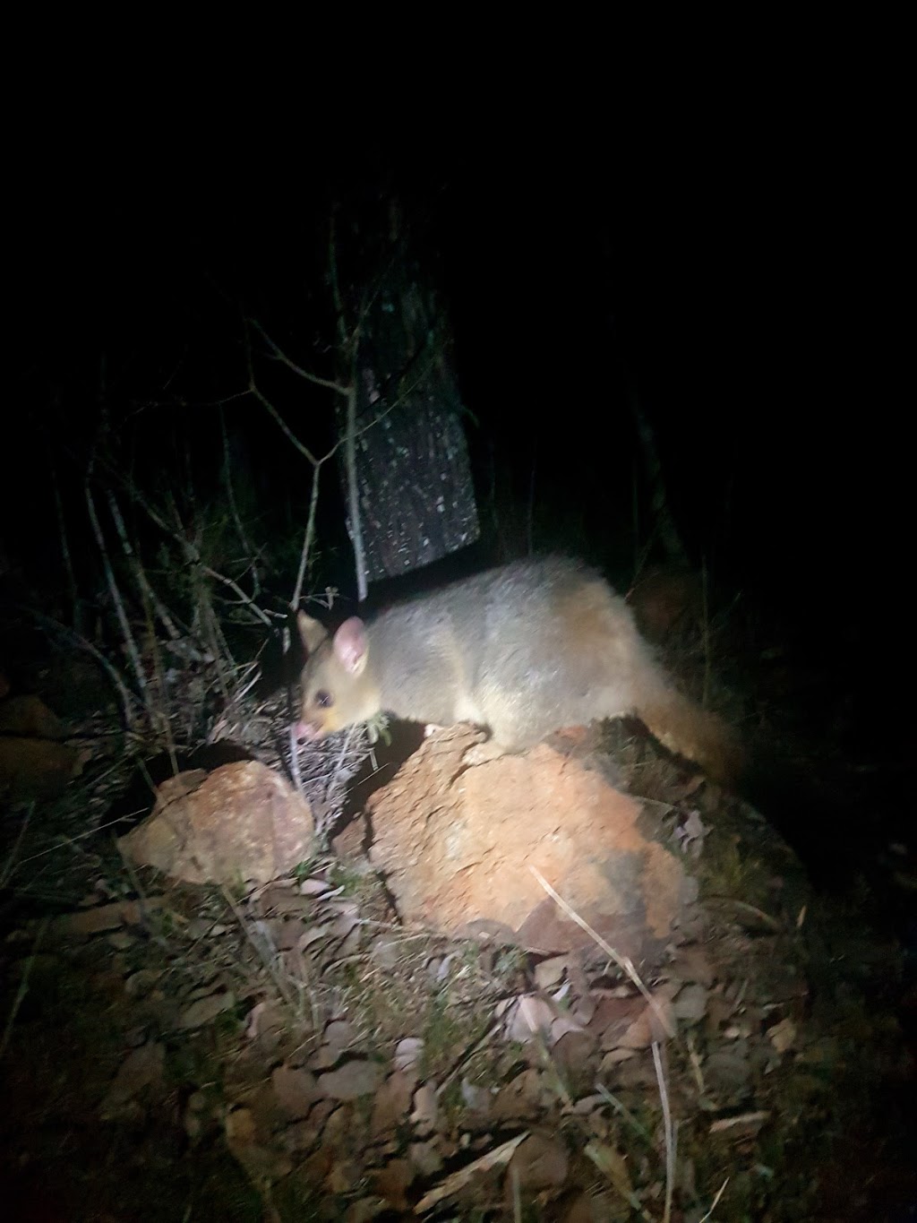
M635 711L670 752L694 761L713 780L735 786L743 770L742 750L729 726L676 689L654 686Z

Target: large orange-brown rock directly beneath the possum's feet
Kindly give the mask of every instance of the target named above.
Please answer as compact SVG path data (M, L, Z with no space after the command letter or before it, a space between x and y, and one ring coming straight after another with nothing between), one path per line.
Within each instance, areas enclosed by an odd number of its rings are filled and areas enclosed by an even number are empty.
M536 867L619 954L658 963L697 885L641 805L547 745L465 768L471 741L430 736L370 800L370 860L402 920L447 934L483 923L542 954L592 947Z

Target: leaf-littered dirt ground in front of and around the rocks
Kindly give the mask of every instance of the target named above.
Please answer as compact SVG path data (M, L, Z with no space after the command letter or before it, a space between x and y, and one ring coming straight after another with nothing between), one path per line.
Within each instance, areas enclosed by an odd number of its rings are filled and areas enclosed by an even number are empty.
M624 728L699 889L635 980L406 927L353 852L249 890L131 868L116 715L66 729L79 775L2 817L7 1218L916 1217L906 846L830 895Z

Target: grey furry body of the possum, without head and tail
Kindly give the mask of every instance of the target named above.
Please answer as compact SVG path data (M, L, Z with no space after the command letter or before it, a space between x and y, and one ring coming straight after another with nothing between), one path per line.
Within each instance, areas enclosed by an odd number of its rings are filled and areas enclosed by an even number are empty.
M657 682L624 600L597 574L559 558L456 582L384 614L375 631L403 696L395 712L478 722L514 748L626 713L635 684Z

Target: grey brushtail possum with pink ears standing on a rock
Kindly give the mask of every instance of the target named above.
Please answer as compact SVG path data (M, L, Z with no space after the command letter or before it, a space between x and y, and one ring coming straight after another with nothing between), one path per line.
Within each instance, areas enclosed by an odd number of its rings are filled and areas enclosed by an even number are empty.
M655 662L627 604L586 566L516 561L356 616L329 636L303 612L301 739L322 739L380 711L412 722L472 722L489 739L479 763L532 747L564 726L636 714L670 751L730 780L736 751L713 714Z

